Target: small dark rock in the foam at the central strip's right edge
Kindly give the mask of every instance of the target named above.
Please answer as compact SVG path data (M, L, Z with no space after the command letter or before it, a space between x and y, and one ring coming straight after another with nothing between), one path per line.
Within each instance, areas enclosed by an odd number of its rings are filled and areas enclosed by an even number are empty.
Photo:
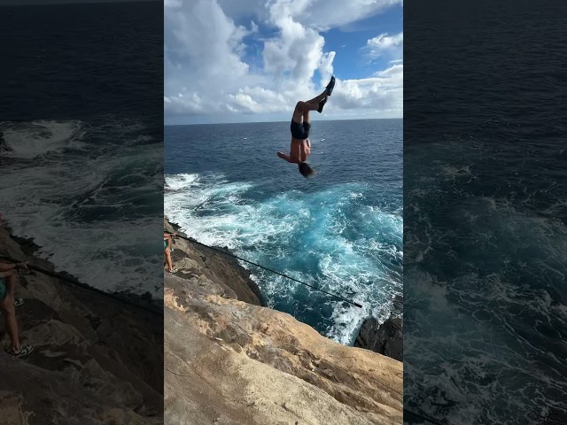
M371 317L364 321L354 342L355 347L379 352L384 356L402 361L403 323L400 318L390 317L383 324Z

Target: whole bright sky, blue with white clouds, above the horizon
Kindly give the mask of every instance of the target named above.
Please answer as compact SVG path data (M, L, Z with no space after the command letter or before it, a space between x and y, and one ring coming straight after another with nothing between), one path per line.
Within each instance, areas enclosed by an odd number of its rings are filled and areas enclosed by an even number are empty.
M401 118L396 0L166 0L166 124L290 120L337 78L318 120Z

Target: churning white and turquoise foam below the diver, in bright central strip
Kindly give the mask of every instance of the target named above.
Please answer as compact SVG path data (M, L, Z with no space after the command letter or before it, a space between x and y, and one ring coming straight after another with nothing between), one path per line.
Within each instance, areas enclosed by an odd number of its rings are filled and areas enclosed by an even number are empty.
M334 324L327 329L328 336L352 344L364 317L388 317L392 298L400 294L401 276L400 270L379 257L401 260L400 250L393 246L393 241L401 242L401 235L396 235L401 232L401 217L376 207L355 206L364 198L366 189L361 185L341 185L308 196L290 190L260 201L253 197L251 183L228 182L222 174L168 175L166 183L172 188L164 200L167 217L199 242L228 246L252 261L276 262L278 271L346 298L356 294L354 301L363 309L344 307L326 296L317 298L333 305ZM348 215L352 208L366 214L363 222L369 234L364 239L344 236L353 231ZM384 233L377 236L377 228ZM298 255L298 250L303 254ZM304 267L315 267L320 274L307 273ZM280 276L259 270L254 276L268 305L274 305L275 299L295 299L297 291L305 291ZM310 307L300 308L306 312Z

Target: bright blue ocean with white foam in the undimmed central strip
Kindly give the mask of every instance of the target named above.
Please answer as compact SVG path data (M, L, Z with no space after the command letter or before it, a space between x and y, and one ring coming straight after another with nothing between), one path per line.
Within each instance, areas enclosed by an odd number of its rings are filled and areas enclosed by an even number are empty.
M314 120L311 179L276 157L289 126L166 127L164 210L201 243L363 305L243 264L268 305L353 344L361 321L384 321L401 296L402 121Z

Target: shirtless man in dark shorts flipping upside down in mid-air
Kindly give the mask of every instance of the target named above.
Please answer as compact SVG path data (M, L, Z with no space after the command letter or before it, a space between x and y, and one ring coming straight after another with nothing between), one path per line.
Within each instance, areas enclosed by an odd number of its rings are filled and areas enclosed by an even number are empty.
M309 111L322 112L323 106L327 103L327 97L333 92L335 87L335 77L330 77L327 87L317 97L307 102L299 101L295 105L293 116L291 117L291 146L290 154L285 155L283 152L277 152L277 156L291 164L299 166L299 173L304 177L310 177L315 174L315 170L307 164L307 157L311 155L311 142L309 141L309 131L311 123L309 122Z

